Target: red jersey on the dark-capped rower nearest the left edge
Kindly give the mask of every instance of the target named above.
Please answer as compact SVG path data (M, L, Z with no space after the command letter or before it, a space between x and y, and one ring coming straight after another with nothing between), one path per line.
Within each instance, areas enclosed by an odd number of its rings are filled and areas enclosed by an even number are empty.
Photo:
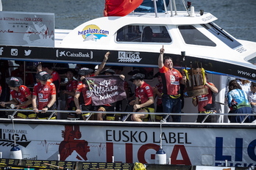
M27 86L21 85L18 87L18 92L15 90L10 90L10 95L18 100L18 104L24 104L28 100L26 97L31 95L30 89ZM21 108L27 108L27 106L22 106Z

